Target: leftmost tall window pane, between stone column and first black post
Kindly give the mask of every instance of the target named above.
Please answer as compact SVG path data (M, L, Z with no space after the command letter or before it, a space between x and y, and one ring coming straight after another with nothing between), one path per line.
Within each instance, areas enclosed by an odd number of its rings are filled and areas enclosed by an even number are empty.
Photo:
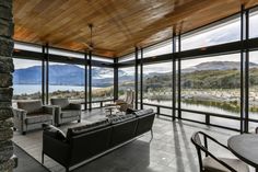
M13 59L13 103L21 100L40 100L42 61Z

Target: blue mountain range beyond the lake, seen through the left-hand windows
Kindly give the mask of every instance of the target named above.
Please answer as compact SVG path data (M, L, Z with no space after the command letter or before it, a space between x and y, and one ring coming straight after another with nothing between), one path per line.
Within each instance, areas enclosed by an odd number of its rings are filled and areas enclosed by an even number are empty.
M119 70L119 74L127 73ZM109 87L114 82L114 70L110 68L93 68L93 87ZM16 69L13 73L14 84L40 84L42 67L33 66ZM49 83L54 85L84 85L84 69L75 65L50 65Z

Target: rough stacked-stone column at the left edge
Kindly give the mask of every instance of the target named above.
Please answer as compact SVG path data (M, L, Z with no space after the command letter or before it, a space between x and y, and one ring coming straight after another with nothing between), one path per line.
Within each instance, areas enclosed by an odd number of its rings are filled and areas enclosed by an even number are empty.
M16 165L13 156L12 72L13 15L12 0L0 0L0 171L9 172Z

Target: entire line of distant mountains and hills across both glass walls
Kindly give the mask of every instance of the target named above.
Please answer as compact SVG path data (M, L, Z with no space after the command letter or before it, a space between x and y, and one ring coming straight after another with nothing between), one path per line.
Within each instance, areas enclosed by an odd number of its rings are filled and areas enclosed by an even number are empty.
M258 65L250 62L249 67L258 72ZM239 84L241 64L237 61L209 61L181 70L183 88L237 88ZM132 85L134 76L124 70L119 72L119 84ZM50 65L49 82L55 85L84 85L84 69L75 65ZM109 87L114 84L114 70L112 68L92 69L93 87ZM148 87L171 87L171 72L153 71L143 76ZM14 84L40 84L42 67L33 66L14 71ZM253 81L253 80L251 80ZM258 83L256 79L254 82ZM211 84L210 84L211 83ZM224 85L223 85L224 84Z

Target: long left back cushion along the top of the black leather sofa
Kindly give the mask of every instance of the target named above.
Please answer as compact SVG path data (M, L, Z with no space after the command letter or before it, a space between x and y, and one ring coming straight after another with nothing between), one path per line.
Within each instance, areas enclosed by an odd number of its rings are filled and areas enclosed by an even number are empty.
M86 125L82 125L82 126L78 126L78 127L73 127L73 128L68 128L67 138L70 139L72 136L77 136L77 135L81 135L81 134L84 134L87 131L99 129L99 128L106 127L108 125L110 125L108 119L103 119L103 121L99 121L96 123L86 124Z

